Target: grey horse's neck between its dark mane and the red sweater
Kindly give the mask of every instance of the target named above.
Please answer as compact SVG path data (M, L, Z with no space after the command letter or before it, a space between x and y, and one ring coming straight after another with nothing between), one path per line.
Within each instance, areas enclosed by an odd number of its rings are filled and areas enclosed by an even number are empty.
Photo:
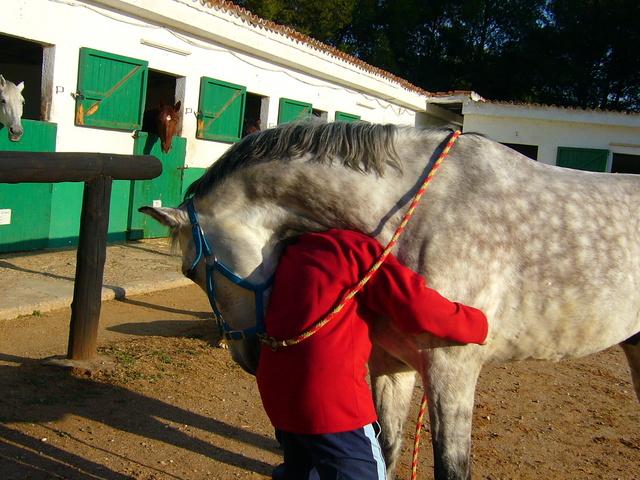
M398 151L402 172L387 167L383 176L337 162L268 162L243 175L243 190L251 202L272 205L284 236L345 228L389 239L436 147L404 142Z

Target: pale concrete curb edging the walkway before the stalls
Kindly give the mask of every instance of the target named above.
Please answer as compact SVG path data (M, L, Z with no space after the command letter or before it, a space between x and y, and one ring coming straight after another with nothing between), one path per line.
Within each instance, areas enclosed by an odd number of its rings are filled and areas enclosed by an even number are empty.
M121 300L133 295L142 295L145 293L153 293L162 290L171 290L173 288L185 287L188 285L194 285L193 281L189 280L182 275L175 275L169 278L155 280L153 282L142 281L124 283L120 286L103 286L102 287L102 301L107 300ZM33 315L34 312L50 312L52 310L58 310L61 308L68 308L73 300L73 284L65 282L60 285L49 285L47 290L39 291L38 294L32 296L35 300L29 303L21 305L8 306L7 308L0 308L0 320L10 320L23 315ZM53 293L53 296L51 295ZM40 296L40 299L37 297Z

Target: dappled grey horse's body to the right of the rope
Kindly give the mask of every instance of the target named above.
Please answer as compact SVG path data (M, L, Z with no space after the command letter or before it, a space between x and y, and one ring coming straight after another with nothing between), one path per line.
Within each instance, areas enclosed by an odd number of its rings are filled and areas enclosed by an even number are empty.
M640 330L640 176L461 143L413 232L421 255L409 257L435 288L487 313L491 355L580 356Z

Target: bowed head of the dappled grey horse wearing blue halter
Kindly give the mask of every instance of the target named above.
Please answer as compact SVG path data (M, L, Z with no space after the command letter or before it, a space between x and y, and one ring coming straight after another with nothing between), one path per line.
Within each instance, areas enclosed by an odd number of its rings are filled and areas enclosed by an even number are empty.
M211 298L214 311L224 313L224 325L227 330L243 332L256 324L258 315L263 315L259 304L267 300L270 288L252 291L239 286L240 280L248 285L268 285L275 271L278 255L273 248L273 231L268 225L256 222L238 222L257 213L243 195L225 197L224 188L219 195L194 201L198 212L196 228L202 228L211 256L203 259L194 241L194 225L189 219L185 205L179 208L142 207L141 212L151 215L162 224L170 227L174 239L183 253L182 272L207 292L207 268L211 269L210 279L215 289L215 298ZM213 201L211 201L213 200ZM216 209L215 205L219 204ZM197 234L196 234L197 235ZM223 268L214 268L223 265ZM228 272L232 272L229 274ZM230 280L231 278L231 280ZM258 300L257 296L261 298ZM219 318L219 320L221 320ZM232 338L233 339L233 338ZM258 365L259 343L255 336L241 335L236 341L229 341L229 349L234 360L247 372L255 374Z

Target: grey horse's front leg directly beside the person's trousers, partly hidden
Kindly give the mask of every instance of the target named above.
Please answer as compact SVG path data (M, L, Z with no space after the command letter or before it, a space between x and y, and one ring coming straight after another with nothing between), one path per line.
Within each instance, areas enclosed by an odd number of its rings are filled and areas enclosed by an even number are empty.
M369 360L369 372L382 429L378 440L387 464L387 476L391 479L400 456L403 427L411 405L416 372L379 347L374 347Z

